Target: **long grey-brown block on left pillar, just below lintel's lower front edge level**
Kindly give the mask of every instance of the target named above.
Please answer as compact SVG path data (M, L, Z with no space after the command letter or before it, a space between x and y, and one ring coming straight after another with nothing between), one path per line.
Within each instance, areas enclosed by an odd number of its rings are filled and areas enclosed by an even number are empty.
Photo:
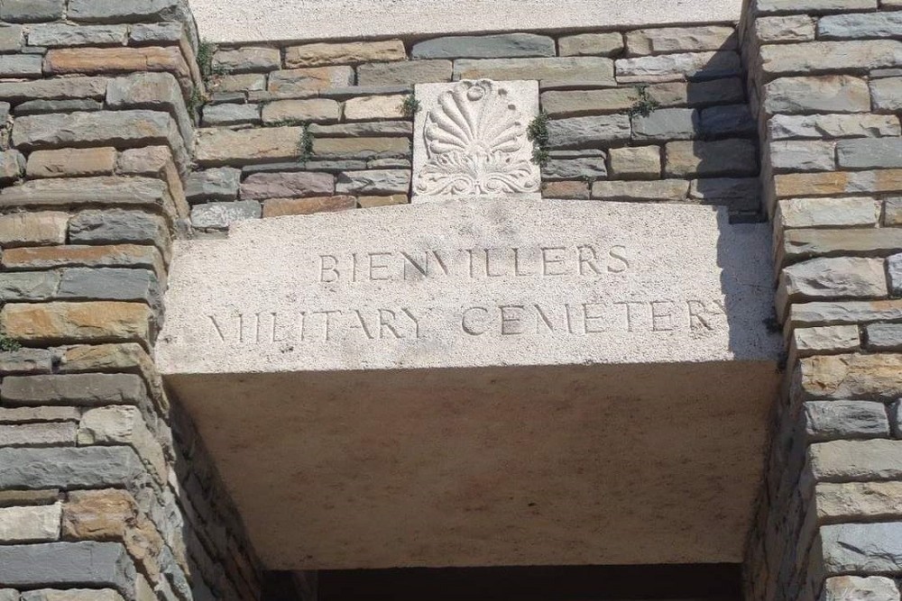
M134 374L10 376L0 387L0 399L8 406L142 405L147 389Z

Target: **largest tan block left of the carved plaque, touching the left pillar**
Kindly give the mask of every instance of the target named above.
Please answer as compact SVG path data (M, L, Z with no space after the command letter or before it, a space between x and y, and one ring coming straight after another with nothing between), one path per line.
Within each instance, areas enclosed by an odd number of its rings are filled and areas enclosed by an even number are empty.
M196 159L201 166L240 164L248 159L286 160L299 157L300 127L198 132Z

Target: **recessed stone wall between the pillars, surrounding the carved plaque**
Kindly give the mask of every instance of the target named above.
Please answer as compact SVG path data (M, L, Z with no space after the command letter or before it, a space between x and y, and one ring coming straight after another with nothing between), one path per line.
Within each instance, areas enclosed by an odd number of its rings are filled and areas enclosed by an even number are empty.
M546 197L759 213L730 24L221 47L205 70L187 189L198 230L409 202L413 86L481 77L540 80Z

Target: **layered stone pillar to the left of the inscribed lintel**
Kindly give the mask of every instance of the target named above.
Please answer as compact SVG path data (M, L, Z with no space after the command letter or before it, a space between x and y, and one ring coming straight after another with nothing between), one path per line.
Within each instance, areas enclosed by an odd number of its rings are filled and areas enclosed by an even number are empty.
M0 599L258 598L150 356L189 214L188 7L5 0L0 20Z

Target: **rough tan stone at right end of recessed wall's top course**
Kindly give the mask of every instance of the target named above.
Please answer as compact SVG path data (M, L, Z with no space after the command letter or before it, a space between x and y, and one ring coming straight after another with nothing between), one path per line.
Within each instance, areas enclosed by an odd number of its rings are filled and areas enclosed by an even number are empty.
M700 50L735 50L736 30L721 25L640 29L626 34L630 56Z

